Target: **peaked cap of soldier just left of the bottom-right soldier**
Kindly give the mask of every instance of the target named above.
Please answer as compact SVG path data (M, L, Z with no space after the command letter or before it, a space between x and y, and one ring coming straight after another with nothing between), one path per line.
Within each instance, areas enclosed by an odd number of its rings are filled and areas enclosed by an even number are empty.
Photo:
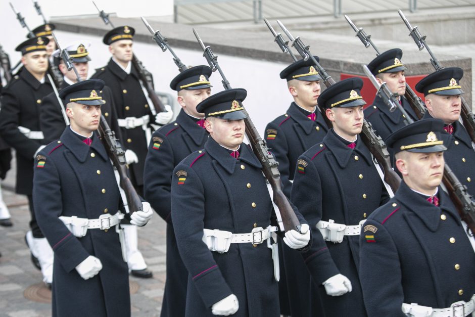
M323 90L318 97L318 105L329 109L366 105L360 93L362 87L361 78L347 78L339 81Z

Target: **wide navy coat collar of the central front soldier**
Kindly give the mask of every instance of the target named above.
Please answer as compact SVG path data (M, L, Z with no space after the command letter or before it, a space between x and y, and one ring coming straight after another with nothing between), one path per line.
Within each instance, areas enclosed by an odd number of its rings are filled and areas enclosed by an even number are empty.
M239 161L244 161L254 167L262 167L261 163L254 155L251 148L245 143L242 143L241 147L239 148L239 158L237 160L230 156L226 149L220 146L211 137L208 138L208 141L206 141L205 143L205 151L213 159L215 159L229 174L232 174L234 172L234 168L237 165L236 162Z

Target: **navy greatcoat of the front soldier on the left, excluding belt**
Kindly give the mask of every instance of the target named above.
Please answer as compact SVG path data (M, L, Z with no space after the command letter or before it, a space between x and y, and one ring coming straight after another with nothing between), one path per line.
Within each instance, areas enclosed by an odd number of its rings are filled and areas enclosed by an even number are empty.
M37 221L55 253L53 316L130 316L128 268L115 228L90 229L76 238L58 218L117 212L120 194L104 146L94 135L89 147L67 127L60 141L40 151L34 168ZM75 267L89 255L103 268L83 280Z

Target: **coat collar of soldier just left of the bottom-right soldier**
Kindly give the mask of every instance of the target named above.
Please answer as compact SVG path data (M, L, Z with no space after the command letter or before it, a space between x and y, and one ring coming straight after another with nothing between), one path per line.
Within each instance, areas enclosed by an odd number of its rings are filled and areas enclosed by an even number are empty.
M341 168L345 168L348 165L350 159L353 158L355 154L363 157L368 166L372 164L371 153L364 145L360 135L358 135L356 147L354 149L350 149L337 137L335 131L333 128L331 128L328 133L326 133L325 138L323 138L323 144L325 144L328 150L333 153Z

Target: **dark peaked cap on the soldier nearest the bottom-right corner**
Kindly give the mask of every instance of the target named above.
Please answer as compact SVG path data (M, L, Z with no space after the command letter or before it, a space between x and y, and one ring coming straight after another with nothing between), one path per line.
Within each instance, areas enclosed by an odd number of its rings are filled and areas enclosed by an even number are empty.
M415 121L389 135L386 145L394 153L409 151L416 153L432 153L447 150L441 138L444 122L439 119Z

